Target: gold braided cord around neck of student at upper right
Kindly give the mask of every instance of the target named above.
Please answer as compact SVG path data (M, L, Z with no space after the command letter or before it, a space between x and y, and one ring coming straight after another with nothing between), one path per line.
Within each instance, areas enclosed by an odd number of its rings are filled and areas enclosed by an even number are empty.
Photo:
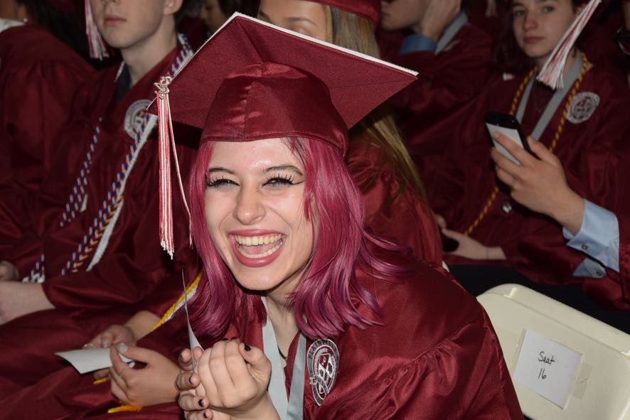
M582 85L582 80L584 79L584 75L586 75L586 72L590 68L586 55L584 55L584 53L581 53L581 54L582 54L582 60L583 60L582 71L580 72L580 76L577 77L577 80L575 80L575 83L573 84L571 91L569 95L567 96L567 100L565 101L564 109L562 109L562 117L560 117L560 122L558 122L557 128L555 129L555 134L553 136L550 146L548 147L549 151L551 152L555 150L555 147L557 146L558 141L560 141L560 136L562 135L562 131L564 131L565 129L565 122L567 120L567 112L569 111L569 107L571 106L573 97L575 97L577 91L580 89L580 86ZM533 68L532 70L530 70L528 75L525 76L523 81L520 82L520 85L518 85L518 89L516 90L516 94L514 95L514 98L512 99L512 105L510 107L511 116L514 116L516 114L516 108L518 107L520 98L523 96L523 91L525 90L525 86L528 85L528 83L530 82L532 77L534 77L537 70L538 70L537 68ZM474 222L472 222L471 225L468 227L468 229L466 229L465 235L470 235L476 229L476 227L479 226L479 223L481 223L481 220L484 220L484 217L486 217L486 215L488 214L488 211L490 211L490 209L492 208L492 205L496 201L496 198L498 196L498 191L499 191L498 185L496 185L495 183L494 188L492 189L492 192L490 193L490 197L488 197L488 200L486 200L486 204L484 205L484 208L481 209L481 212L479 212L479 215L476 217Z

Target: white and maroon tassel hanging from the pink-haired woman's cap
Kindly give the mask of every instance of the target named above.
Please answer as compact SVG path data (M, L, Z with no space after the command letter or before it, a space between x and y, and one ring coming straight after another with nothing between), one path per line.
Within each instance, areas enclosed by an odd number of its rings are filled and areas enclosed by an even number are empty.
M188 210L186 195L183 192L181 173L177 161L177 151L175 149L175 137L173 136L173 122L171 121L171 105L169 104L169 83L171 77L161 77L157 87L156 102L158 107L158 154L160 168L160 244L171 259L175 252L173 240L173 193L171 191L171 147L173 149L173 159L175 161L175 172L179 183L179 190L183 200L183 207L188 215L188 242L192 246L191 236L191 211Z

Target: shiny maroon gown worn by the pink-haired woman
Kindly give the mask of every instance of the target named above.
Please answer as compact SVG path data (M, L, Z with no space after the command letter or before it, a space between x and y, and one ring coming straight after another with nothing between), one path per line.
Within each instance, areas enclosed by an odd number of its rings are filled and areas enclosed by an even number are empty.
M333 338L340 355L335 386L318 406L305 375L304 419L523 417L490 321L448 274L418 264L416 276L400 283L358 276L383 309L383 325L348 328ZM257 347L260 328L237 325ZM297 337L289 349L287 392L296 349Z

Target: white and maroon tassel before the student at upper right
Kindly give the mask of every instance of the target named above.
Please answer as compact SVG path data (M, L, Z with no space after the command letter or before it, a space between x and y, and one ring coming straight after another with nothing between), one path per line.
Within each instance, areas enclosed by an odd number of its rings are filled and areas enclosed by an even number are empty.
M545 83L552 89L562 88L562 75L565 71L565 65L567 63L567 57L571 53L571 48L577 41L577 37L580 36L584 27L587 26L589 19L593 16L597 6L602 3L602 0L590 0L586 6L582 8L580 14L577 15L567 32L560 42L555 46L551 55L549 56L547 63L540 69L537 80Z

